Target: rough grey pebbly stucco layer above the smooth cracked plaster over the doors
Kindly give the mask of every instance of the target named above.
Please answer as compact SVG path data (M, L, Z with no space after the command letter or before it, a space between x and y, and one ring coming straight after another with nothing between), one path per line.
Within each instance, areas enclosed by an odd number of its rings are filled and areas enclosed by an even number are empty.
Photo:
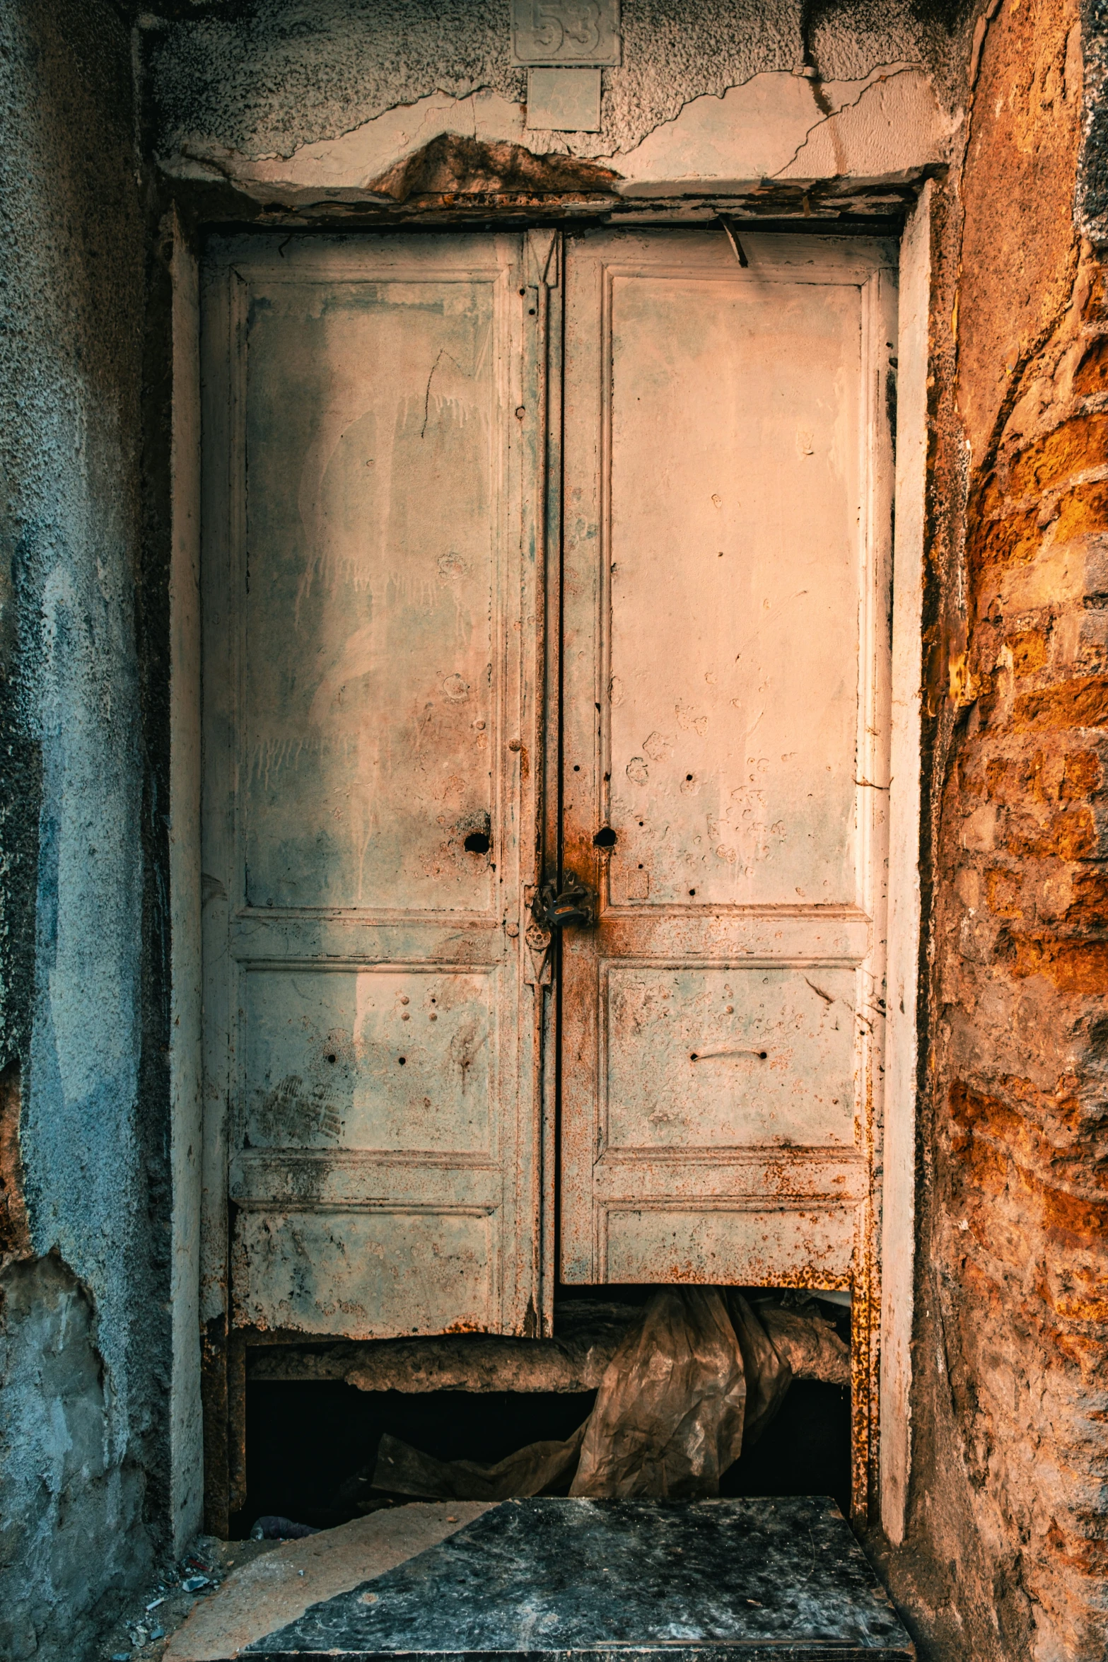
M510 105L527 96L527 71L508 61L507 0L319 0L309 10L276 0L236 10L151 27L161 155L216 141L289 158L432 93L462 100L483 88ZM623 66L603 78L601 131L535 133L530 148L626 155L691 100L723 98L762 73L789 75L807 50L829 81L862 80L882 63L934 66L947 43L937 12L910 0L625 0Z

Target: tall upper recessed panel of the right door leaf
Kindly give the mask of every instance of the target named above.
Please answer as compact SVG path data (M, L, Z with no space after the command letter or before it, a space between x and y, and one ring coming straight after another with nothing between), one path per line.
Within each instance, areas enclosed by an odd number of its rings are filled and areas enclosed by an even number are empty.
M603 301L611 902L849 904L859 291L616 268Z

